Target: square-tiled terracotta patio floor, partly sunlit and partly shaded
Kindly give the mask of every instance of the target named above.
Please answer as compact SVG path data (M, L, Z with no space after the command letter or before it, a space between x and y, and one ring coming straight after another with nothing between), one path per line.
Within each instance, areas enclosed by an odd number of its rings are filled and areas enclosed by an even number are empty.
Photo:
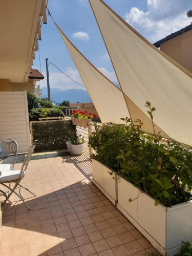
M23 184L36 197L26 194L30 211L18 201L4 207L0 255L146 255L151 244L92 184L91 175L91 161L83 155L33 157Z

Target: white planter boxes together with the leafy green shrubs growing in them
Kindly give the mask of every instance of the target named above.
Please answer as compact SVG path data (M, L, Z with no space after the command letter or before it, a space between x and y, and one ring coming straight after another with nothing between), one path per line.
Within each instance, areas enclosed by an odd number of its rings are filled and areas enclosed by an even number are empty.
M153 123L150 102L146 102ZM160 134L145 134L142 123L95 125L89 143L93 182L163 255L176 255L182 241L192 241L192 151ZM115 185L105 178L115 175ZM108 183L106 186L105 183ZM107 188L106 188L107 187ZM113 202L113 201L112 201Z

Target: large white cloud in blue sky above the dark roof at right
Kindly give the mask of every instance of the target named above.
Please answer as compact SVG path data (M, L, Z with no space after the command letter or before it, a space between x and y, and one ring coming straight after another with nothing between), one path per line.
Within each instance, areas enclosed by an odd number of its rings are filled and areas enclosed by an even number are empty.
M191 0L147 0L147 11L133 7L125 20L151 42L186 27L192 21L186 16Z

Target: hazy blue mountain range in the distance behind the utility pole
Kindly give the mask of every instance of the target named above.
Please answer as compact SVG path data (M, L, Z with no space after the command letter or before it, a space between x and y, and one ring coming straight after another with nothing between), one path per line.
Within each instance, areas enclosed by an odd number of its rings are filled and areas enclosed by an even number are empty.
M70 102L92 102L88 91L81 89L60 90L50 88L51 99L57 102L69 100ZM47 87L41 88L41 97L47 97Z

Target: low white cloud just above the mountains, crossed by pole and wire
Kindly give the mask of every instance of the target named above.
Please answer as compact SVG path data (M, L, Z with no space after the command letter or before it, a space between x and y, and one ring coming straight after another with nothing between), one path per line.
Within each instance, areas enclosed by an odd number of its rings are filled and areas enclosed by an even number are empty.
M77 81L78 83L82 84L83 82L79 76L79 73L76 69L73 69L71 67L67 68L64 71L68 76L70 76L73 80ZM42 80L40 83L41 87L47 86L47 79L46 79L46 72L42 72L42 74L45 76L44 80ZM70 78L63 75L61 72L49 72L49 83L50 87L58 88L61 90L68 90L68 89L82 89L86 90L86 88L83 88L81 86L78 86L75 82L73 82Z

